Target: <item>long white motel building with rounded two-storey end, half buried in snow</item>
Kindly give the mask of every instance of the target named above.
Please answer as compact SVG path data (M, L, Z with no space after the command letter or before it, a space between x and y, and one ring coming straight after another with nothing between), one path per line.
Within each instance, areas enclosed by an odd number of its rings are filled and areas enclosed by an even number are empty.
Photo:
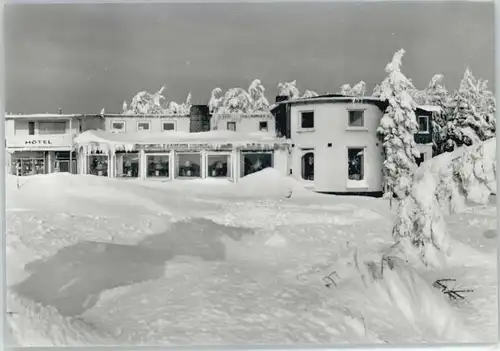
M7 115L8 171L71 172L125 179L240 178L267 167L306 188L379 195L382 147L376 129L384 102L341 95L288 99L270 112L185 115ZM415 140L432 157L434 107L417 109Z

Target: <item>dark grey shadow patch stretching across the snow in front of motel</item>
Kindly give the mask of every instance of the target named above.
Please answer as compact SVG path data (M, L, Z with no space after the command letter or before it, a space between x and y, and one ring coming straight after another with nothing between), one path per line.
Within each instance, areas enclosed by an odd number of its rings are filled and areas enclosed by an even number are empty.
M63 316L75 316L93 307L104 290L162 277L165 263L176 256L225 260L222 239L241 240L252 233L251 229L192 218L173 223L166 232L146 237L134 246L79 242L27 264L25 269L32 274L13 290L54 306Z

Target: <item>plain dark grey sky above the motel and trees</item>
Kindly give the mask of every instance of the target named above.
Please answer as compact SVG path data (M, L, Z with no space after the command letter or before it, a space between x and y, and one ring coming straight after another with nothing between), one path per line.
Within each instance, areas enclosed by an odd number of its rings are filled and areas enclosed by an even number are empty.
M206 103L213 88L260 78L369 93L395 51L418 88L435 73L455 89L465 68L494 86L488 2L17 4L5 7L9 112L120 112L140 90Z

